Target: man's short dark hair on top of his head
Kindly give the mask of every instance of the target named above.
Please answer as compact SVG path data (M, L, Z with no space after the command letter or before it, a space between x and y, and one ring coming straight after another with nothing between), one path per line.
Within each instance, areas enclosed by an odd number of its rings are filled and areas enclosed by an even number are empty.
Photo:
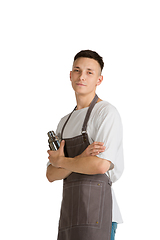
M104 67L103 58L97 52L94 52L91 50L82 50L75 55L74 61L76 61L76 59L80 58L80 57L92 58L92 59L96 60L99 63L99 65L101 67L101 71L102 71L102 69Z

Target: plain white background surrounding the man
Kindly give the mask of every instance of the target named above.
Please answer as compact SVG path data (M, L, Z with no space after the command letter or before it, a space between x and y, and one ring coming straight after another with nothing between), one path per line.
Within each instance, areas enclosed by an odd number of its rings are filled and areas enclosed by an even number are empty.
M69 72L103 56L98 95L118 109L125 171L116 239L159 239L159 1L0 2L0 238L56 239L62 181L46 177L48 138L75 106Z

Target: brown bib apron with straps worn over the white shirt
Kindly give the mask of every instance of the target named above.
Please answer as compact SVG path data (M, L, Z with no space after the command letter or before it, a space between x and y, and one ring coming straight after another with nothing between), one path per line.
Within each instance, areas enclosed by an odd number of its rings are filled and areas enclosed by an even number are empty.
M64 139L66 157L78 156L90 145L86 132L87 122L97 100L98 96L95 95L83 123L82 135ZM62 128L61 139L71 114ZM106 174L73 172L64 179L58 240L110 240L111 185Z

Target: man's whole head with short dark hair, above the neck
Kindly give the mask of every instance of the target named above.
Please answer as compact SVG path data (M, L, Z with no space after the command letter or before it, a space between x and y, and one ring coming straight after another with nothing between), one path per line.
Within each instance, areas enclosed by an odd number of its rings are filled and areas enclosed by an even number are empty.
M104 63L98 53L85 50L74 57L70 80L76 94L94 95L96 87L103 81Z

